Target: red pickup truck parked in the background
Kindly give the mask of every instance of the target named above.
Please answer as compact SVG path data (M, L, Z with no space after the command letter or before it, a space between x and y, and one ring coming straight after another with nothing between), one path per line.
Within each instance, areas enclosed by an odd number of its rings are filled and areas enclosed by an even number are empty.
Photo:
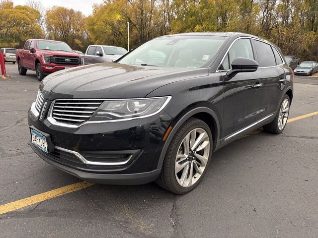
M28 69L35 70L39 81L55 71L83 64L79 54L61 41L27 40L24 48L16 51L15 57L19 74L25 75Z

